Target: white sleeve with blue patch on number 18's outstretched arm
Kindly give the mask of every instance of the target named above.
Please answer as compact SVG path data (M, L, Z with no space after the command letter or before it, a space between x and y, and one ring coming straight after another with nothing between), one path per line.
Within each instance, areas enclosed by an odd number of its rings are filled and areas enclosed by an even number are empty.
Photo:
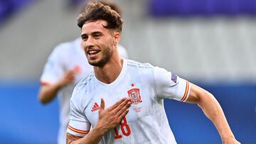
M186 101L190 92L190 83L167 70L154 67L156 94L162 98Z

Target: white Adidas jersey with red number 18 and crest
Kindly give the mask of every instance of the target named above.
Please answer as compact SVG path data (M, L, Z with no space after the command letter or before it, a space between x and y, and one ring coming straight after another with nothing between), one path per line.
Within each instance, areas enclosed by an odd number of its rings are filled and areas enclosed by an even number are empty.
M106 108L122 97L132 99L129 113L100 143L176 143L164 110L164 98L186 101L190 84L175 74L150 64L124 60L122 71L111 84L92 72L75 87L70 99L68 133L85 136L97 124L100 99Z

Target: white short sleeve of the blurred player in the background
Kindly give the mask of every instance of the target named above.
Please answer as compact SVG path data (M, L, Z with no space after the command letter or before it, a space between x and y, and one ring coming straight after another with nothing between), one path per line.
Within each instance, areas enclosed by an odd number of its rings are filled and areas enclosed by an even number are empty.
M57 46L51 52L41 76L41 84L55 84L64 73L63 59L61 50L63 45Z

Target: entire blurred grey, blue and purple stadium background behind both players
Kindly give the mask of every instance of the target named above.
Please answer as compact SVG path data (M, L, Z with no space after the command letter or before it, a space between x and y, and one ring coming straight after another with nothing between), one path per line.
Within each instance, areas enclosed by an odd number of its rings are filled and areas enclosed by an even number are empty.
M0 143L56 143L58 101L39 104L38 79L54 46L80 34L77 12L63 0L17 1L26 9L9 13L0 1ZM238 140L256 143L256 1L117 3L125 21L121 43L131 59L165 67L212 92ZM178 143L220 143L197 106L170 100L165 106Z

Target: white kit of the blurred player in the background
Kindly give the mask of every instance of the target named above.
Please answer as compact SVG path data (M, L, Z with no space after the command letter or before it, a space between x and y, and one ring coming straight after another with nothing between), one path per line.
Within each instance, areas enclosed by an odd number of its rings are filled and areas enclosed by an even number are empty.
M118 45L120 55L127 57L127 51L124 47ZM66 130L68 128L70 116L70 97L73 89L80 79L86 77L93 71L92 66L88 63L85 57L85 52L82 50L80 38L68 43L58 45L48 57L48 62L45 65L41 76L42 84L55 84L60 77L68 70L76 68L79 73L75 75L75 82L63 87L58 92L58 100L60 105L60 128L58 132L58 143L65 143Z

